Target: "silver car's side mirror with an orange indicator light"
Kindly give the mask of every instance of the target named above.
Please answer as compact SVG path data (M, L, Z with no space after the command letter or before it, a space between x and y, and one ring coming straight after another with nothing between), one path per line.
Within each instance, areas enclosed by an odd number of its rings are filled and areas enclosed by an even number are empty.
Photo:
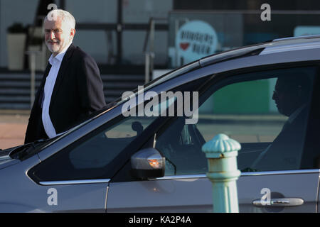
M165 165L165 157L155 148L139 150L131 157L132 176L139 179L164 177Z

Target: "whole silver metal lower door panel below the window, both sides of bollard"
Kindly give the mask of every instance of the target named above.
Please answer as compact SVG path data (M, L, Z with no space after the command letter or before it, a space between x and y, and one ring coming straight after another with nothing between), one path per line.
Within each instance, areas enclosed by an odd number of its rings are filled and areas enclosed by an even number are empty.
M239 211L243 213L316 212L315 194L319 170L242 174L237 181ZM270 189L272 199L301 198L302 206L261 206L262 189ZM128 190L130 189L130 190ZM139 193L137 193L139 192ZM163 177L137 182L110 183L107 212L212 212L212 183L206 175ZM283 195L283 196L281 196ZM276 196L276 197L274 197Z

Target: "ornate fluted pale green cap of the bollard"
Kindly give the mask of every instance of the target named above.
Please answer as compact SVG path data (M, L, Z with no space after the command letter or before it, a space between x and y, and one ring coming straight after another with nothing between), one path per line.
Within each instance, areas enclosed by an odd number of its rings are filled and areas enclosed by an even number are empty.
M218 134L202 146L202 151L208 158L233 157L241 149L238 141L230 139L228 135Z

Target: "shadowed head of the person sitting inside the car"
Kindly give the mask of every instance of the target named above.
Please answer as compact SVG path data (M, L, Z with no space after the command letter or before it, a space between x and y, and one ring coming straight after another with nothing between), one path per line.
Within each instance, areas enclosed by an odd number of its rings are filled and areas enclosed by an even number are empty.
M290 116L301 105L298 89L288 87L284 79L277 80L272 99L279 113L284 116Z

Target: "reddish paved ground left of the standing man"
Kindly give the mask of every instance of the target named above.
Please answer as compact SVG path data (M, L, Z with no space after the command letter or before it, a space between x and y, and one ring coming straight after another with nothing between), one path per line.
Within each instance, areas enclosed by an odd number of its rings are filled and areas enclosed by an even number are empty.
M30 111L0 110L0 149L23 144Z

